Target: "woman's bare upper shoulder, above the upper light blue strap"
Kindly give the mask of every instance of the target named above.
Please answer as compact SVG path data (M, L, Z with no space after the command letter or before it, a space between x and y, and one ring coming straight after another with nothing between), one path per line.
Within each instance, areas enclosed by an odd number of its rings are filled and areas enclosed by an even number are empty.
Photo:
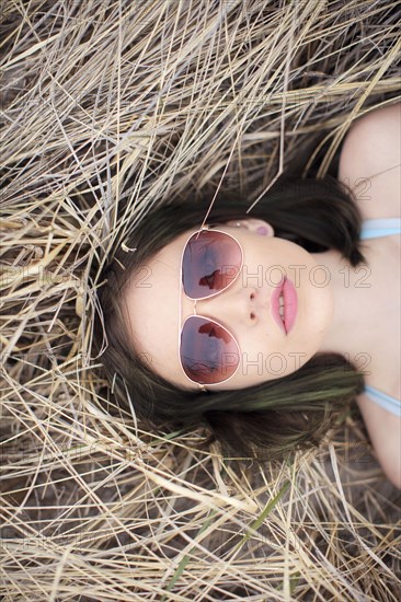
M373 111L351 127L339 181L355 194L364 219L400 216L401 103Z

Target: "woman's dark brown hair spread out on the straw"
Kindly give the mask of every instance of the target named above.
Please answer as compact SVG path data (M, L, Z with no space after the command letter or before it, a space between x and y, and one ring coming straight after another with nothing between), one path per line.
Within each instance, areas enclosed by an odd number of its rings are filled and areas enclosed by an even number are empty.
M121 303L129 277L175 236L200 225L209 202L172 204L148 213L118 242L102 273L94 344L116 402L151 428L204 426L225 453L236 456L277 459L317 445L363 391L363 375L342 355L317 354L290 375L248 389L194 393L153 373L127 339ZM360 213L332 176L282 180L250 215L248 206L237 195L220 195L207 223L262 218L276 236L311 253L334 248L352 266L364 262Z

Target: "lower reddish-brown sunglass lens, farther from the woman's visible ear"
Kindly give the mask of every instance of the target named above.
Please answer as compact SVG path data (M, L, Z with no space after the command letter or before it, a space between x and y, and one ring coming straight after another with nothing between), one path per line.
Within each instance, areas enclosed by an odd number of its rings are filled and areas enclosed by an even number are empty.
M217 384L237 370L240 352L222 326L197 315L188 317L181 333L181 363L185 374L199 384Z

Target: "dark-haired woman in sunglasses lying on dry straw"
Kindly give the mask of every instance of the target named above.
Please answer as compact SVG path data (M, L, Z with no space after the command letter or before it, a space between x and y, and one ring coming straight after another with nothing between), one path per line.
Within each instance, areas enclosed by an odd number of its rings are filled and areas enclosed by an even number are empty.
M208 200L142 220L99 291L119 403L272 460L318 444L356 398L401 487L400 131L399 104L368 113L339 182L286 178L250 215L220 197L204 225Z

